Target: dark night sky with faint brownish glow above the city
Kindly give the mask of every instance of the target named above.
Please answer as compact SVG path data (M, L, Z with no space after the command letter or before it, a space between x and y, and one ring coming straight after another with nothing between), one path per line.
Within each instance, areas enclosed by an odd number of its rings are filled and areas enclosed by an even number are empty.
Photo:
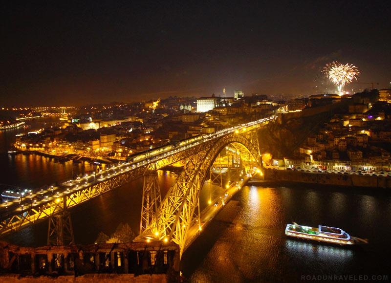
M389 0L22 2L1 7L0 106L310 95L334 60L391 87Z

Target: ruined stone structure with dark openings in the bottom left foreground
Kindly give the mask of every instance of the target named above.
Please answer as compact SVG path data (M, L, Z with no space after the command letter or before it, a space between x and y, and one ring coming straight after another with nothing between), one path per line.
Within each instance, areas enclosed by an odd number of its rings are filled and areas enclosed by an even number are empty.
M114 243L34 248L0 241L0 268L3 273L25 276L164 274L175 280L179 276L179 246L174 243Z

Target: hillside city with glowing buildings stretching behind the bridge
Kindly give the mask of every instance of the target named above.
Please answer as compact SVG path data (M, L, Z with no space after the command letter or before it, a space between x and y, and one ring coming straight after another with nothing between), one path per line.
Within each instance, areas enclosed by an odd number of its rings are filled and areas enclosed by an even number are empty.
M311 109L322 112L322 108L338 105L341 107L322 120L322 125L311 129L288 155L261 145L264 166L355 174L390 171L391 89L352 96L311 95L289 101L272 101L266 95L245 95L238 90L231 97L175 96L128 104L1 111L15 117L13 121L2 121L3 127L20 127L29 117L61 117L60 123L19 134L14 144L16 151L37 152L60 161L72 159L75 163L109 163L272 113L296 115Z

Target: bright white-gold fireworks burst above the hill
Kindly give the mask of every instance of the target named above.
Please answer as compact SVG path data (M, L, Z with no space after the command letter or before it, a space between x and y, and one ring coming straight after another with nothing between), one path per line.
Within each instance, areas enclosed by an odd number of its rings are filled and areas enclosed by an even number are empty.
M347 84L351 83L353 79L357 81L357 76L360 74L355 65L352 64L341 64L339 62L333 62L326 64L323 68L323 72L326 77L338 87L338 91L342 93L342 89Z

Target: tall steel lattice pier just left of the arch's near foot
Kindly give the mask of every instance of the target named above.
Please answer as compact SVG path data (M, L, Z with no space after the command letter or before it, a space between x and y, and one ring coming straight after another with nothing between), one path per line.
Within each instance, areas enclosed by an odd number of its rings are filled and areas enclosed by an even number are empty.
M140 234L151 224L161 203L160 187L157 171L144 175L143 200L141 205Z

